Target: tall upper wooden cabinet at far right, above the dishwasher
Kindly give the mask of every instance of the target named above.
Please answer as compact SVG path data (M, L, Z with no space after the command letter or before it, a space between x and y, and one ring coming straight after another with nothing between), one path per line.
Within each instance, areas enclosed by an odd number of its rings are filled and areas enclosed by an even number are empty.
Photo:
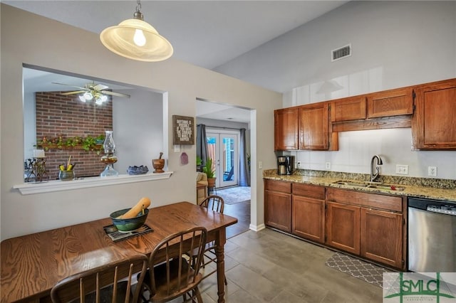
M412 119L415 149L456 149L456 79L416 88Z

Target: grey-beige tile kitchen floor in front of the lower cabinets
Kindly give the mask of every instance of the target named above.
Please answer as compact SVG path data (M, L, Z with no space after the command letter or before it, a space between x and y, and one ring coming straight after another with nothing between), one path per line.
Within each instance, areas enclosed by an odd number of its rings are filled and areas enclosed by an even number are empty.
M333 253L268 228L229 238L226 302L382 302L380 287L327 267ZM217 302L216 275L199 289L205 303Z

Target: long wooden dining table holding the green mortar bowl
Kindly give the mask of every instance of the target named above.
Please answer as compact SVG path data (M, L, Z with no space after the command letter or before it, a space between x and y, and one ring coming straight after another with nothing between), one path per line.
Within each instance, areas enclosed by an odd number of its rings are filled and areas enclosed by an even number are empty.
M194 226L207 229L207 240L215 240L218 302L224 302L224 244L226 228L237 223L222 213L190 202L150 208L145 222L152 231L114 242L103 227L103 218L41 233L1 241L1 303L51 302L51 288L69 275L99 265L150 252L172 233Z

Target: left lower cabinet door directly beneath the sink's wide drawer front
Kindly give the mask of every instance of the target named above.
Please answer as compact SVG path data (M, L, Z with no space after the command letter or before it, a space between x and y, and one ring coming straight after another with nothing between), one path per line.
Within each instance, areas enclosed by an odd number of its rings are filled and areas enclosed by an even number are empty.
M326 244L334 248L360 253L360 208L326 202Z

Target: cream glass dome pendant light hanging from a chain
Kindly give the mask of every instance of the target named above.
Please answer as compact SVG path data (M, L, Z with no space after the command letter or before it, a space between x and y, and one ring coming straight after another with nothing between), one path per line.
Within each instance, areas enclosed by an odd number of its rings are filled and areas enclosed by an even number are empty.
M105 28L100 33L101 43L113 53L133 60L156 62L170 58L171 43L143 21L140 9L141 1L137 0L133 19Z

